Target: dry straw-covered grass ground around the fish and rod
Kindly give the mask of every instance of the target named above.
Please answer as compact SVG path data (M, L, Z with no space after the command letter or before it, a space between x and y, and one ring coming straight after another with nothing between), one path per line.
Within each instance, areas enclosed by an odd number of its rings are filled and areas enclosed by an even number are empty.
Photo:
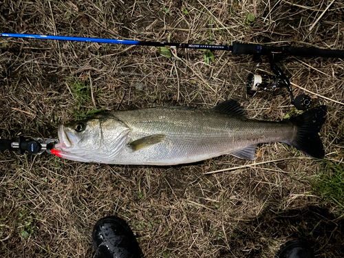
M343 50L341 1L0 2L0 32ZM213 51L206 63L204 54L0 38L0 137L56 138L58 124L98 109L208 109L229 98L252 119L300 113L286 90L246 94L248 74L270 72L268 58ZM327 105L324 160L281 143L259 145L255 161L225 155L167 167L5 151L1 257L93 257L92 227L107 215L129 223L146 257L274 257L299 238L316 257L343 257L344 64L289 57L281 65L296 96ZM221 169L230 170L214 172Z

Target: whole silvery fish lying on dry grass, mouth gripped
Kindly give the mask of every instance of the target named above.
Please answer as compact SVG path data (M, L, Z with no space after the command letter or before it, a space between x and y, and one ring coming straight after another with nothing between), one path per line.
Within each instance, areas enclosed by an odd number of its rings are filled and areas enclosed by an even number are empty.
M314 158L326 106L276 121L247 118L235 100L211 109L158 107L109 111L58 127L52 153L78 162L169 166L220 155L255 160L257 144L284 142Z

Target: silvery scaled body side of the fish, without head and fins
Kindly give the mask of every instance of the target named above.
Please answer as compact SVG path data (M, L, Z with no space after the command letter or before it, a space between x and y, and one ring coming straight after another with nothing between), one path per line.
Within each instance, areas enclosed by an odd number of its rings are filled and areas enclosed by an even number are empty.
M167 122L161 122L159 117L162 115ZM144 160L144 164L196 162L232 153L251 144L290 140L295 130L290 122L248 120L214 111L141 109L119 111L114 116L131 129L129 136L133 140L166 134L164 142L154 147L136 153L121 153L118 156L121 164L133 160Z

